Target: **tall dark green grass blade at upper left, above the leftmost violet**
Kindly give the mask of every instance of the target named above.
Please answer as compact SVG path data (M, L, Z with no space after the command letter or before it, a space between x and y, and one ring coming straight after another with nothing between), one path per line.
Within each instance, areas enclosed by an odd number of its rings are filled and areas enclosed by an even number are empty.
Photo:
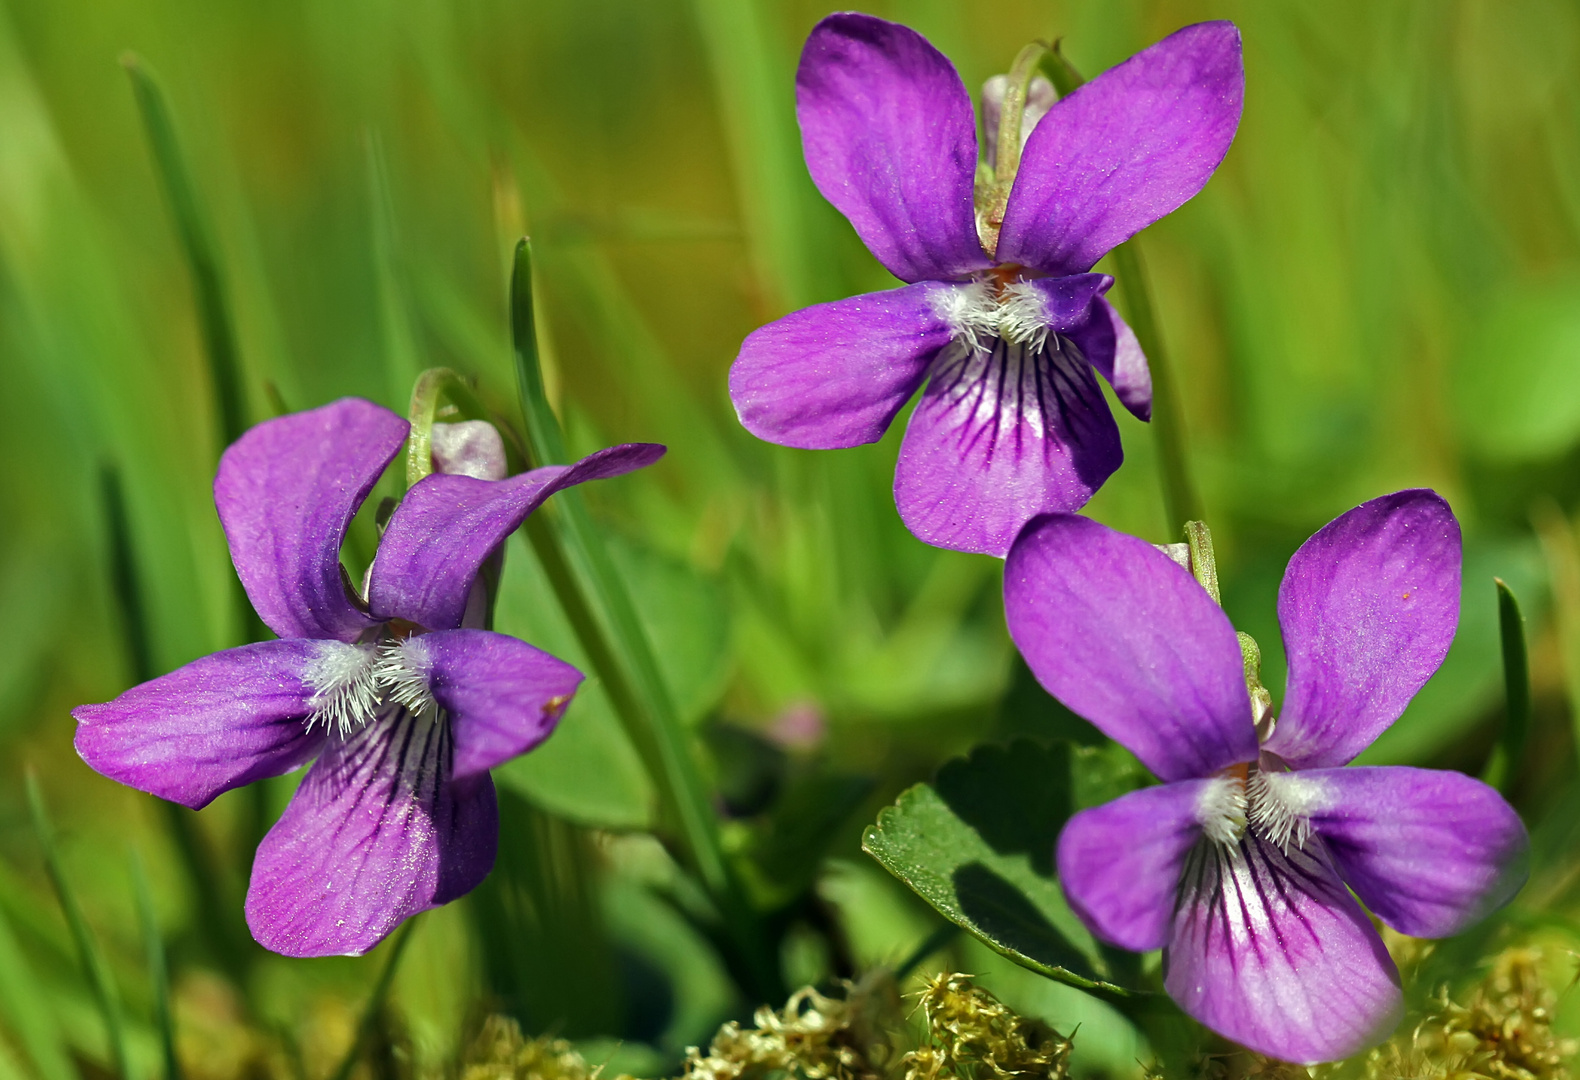
M141 57L122 57L131 90L137 98L142 126L149 137L149 150L160 174L160 185L175 219L175 232L193 275L193 294L198 303L198 324L202 330L204 355L209 358L209 377L213 381L215 409L220 417L223 445L235 442L246 429L246 393L242 376L242 351L235 338L235 321L226 297L224 272L213 232L198 199L198 186L182 158L175 123L158 79Z

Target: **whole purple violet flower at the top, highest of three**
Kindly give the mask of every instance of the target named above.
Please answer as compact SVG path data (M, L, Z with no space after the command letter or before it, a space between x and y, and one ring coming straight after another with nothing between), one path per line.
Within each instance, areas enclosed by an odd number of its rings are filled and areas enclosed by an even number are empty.
M1030 518L1085 505L1123 456L1093 369L1152 414L1147 360L1103 298L1112 278L1089 270L1201 191L1243 90L1231 22L1185 27L1057 103L1033 82L1025 117L1041 118L994 204L943 54L894 22L828 16L796 73L807 169L907 284L747 336L730 369L741 423L787 447L855 447L927 382L894 472L916 537L1002 556ZM989 169L1002 98L991 82Z

